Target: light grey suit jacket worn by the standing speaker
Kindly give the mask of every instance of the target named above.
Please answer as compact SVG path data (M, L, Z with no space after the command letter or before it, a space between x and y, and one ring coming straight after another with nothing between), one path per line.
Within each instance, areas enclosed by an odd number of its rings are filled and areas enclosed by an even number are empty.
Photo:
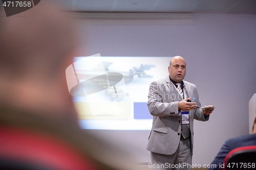
M189 126L191 134L191 154L193 154L193 121L194 119L206 121L203 110L200 110L196 85L183 81L187 97L196 98L197 109L189 110ZM183 100L169 76L154 81L148 93L148 110L153 115L153 127L146 145L146 150L164 154L174 154L179 146L181 135L181 117L178 103Z

